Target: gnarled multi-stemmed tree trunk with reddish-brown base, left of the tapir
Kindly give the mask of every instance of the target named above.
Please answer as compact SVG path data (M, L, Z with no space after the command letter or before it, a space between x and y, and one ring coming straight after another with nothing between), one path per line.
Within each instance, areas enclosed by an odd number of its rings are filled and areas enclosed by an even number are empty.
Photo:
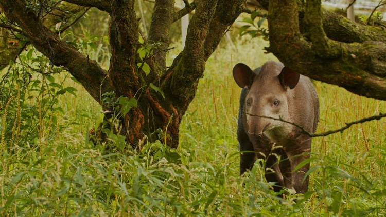
M101 102L101 94L114 91L116 96L136 98L133 107L121 120L120 133L127 142L138 147L146 138L151 142L162 137L166 145L177 148L182 116L195 96L199 79L203 76L205 62L214 52L220 38L242 11L244 0L196 1L181 11L174 11L173 0L159 0L145 43L159 43L153 55L145 61L150 68L148 75L138 67L138 48L141 48L138 18L134 0L68 0L79 6L96 7L111 16L109 26L112 57L108 71L95 61L62 41L59 35L43 25L41 17L28 10L23 0L2 0L0 7L8 19L17 23L21 33L36 49L61 63L84 86L90 95ZM166 67L166 50L169 47L171 24L184 13L196 9L188 27L185 49ZM164 97L150 88L159 87ZM108 109L108 108L106 108ZM158 134L154 132L159 132Z

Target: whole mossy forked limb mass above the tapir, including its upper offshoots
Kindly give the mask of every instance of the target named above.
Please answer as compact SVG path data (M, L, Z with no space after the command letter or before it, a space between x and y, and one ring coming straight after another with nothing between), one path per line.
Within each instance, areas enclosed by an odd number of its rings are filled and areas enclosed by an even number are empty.
M271 0L268 11L268 51L286 66L355 94L386 100L385 31L324 11L320 0Z

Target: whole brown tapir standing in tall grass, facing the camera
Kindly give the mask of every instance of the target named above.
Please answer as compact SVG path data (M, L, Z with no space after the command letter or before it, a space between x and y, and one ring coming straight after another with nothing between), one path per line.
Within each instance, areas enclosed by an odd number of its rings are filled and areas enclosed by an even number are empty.
M275 183L274 191L307 192L309 163L296 166L311 151L311 137L299 126L313 133L319 122L318 94L310 79L274 61L255 70L238 63L233 77L243 88L237 129L240 175L264 159L265 177Z

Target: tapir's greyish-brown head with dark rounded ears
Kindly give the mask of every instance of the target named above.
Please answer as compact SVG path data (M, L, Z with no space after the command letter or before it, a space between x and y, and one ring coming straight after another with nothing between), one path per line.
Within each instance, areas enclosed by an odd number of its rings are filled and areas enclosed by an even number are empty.
M233 68L233 77L238 86L247 88L244 112L245 130L250 135L276 131L289 133L288 125L280 120L291 121L290 109L292 89L299 82L300 74L284 67L282 63L267 62L252 71L247 65L238 63ZM267 117L273 117L270 119ZM285 127L287 126L287 127Z

